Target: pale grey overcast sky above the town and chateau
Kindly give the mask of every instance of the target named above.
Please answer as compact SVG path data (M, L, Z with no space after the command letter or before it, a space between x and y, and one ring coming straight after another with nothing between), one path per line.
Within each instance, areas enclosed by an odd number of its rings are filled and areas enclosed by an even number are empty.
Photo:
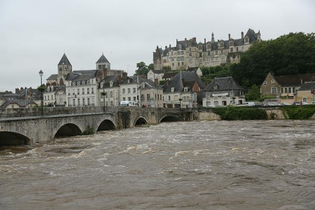
M73 70L95 69L104 53L112 69L132 75L153 62L157 45L176 39L263 40L315 32L314 0L0 0L0 91L36 88L57 74L66 54Z

